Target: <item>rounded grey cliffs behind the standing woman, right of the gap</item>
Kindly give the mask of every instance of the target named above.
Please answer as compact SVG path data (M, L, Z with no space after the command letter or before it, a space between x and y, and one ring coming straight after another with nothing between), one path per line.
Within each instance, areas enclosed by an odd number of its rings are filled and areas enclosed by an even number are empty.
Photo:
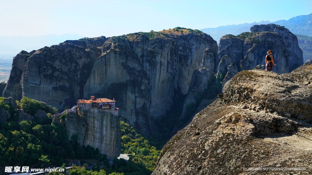
M251 32L240 35L225 35L220 39L220 53L217 62L221 69L218 76L227 74L224 67L230 64L221 64L221 60L229 60L238 71L250 70L257 65L265 64L266 52L273 51L276 66L273 71L287 73L303 64L302 50L299 48L297 37L285 27L268 24L254 25ZM220 67L220 68L219 68Z

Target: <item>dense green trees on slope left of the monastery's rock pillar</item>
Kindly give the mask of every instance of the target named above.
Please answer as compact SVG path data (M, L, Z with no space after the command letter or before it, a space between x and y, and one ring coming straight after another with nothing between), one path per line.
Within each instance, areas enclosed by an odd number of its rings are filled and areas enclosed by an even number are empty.
M38 109L50 111L36 100L23 98L18 105L27 113L36 113ZM44 119L35 117L33 121L17 122L17 109L8 106L0 98L0 108L8 110L11 117L0 123L0 166L6 164L23 166L48 165L60 166L65 159L103 160L99 150L91 146L77 145L75 139L67 138L66 128L52 123L51 113ZM63 116L65 117L65 116Z

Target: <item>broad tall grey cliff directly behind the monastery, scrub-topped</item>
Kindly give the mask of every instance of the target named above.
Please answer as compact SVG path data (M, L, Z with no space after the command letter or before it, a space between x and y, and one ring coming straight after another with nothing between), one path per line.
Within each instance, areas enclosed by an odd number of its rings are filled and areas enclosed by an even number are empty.
M153 39L135 33L107 40L86 82L84 97L115 98L123 106L120 116L140 129L151 128L151 120L170 109L174 95L188 93L201 62L213 64L218 52L216 41L206 34L166 32L152 33L157 35ZM206 48L211 48L210 55L203 57Z

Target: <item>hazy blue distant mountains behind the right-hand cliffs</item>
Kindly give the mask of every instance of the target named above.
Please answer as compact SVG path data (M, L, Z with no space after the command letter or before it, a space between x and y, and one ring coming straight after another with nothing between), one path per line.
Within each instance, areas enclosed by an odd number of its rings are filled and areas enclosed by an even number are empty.
M201 31L210 35L214 40L219 43L220 38L224 35L239 35L242 32L249 32L251 26L253 25L270 23L285 26L294 34L312 36L312 13L309 15L296 16L289 20L279 20L275 22L261 21L254 23L244 23L239 25L226 25L219 26L217 28L205 28L201 29Z

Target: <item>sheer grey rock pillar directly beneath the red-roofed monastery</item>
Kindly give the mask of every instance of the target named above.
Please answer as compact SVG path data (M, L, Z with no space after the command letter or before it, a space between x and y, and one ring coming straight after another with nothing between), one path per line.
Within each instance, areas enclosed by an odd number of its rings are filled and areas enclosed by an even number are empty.
M121 150L121 130L118 116L102 109L78 109L68 113L65 122L68 139L77 134L80 145L98 148L101 154L118 157Z

